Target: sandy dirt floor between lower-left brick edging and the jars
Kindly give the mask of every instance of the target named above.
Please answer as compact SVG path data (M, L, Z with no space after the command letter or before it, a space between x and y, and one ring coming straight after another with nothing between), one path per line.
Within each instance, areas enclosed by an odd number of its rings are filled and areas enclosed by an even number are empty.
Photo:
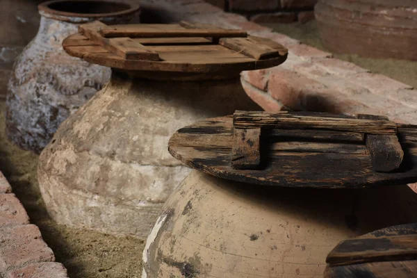
M38 225L45 242L54 250L71 278L138 278L142 274L144 243L136 238L117 238L95 231L70 229L49 218L36 178L38 155L22 151L6 138L5 103L0 99L0 170L13 193Z

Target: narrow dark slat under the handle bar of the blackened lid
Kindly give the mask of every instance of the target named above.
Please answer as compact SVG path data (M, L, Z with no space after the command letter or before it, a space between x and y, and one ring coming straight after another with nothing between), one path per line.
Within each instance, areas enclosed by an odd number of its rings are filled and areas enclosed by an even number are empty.
M277 138L291 138L294 140L322 140L322 141L347 141L365 142L364 133L321 131L309 129L269 129L268 136Z

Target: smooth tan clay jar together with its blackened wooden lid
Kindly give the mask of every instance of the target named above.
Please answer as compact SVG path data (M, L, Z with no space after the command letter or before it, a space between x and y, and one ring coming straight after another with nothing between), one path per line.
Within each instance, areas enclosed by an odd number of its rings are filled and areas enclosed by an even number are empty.
M395 131L375 130L382 122ZM198 171L165 202L142 278L323 277L341 240L416 222L417 195L403 185L417 179L415 134L377 115L286 111L179 129L169 152Z

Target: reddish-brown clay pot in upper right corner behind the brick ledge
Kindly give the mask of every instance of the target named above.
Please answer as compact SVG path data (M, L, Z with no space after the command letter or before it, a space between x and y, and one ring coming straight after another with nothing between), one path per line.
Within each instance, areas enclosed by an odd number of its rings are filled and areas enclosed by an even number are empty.
M319 0L315 14L334 53L417 60L417 1Z

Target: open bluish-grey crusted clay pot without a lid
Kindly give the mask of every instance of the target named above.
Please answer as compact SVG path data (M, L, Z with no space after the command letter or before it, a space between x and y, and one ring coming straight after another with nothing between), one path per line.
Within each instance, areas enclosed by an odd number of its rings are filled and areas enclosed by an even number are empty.
M78 25L138 18L138 6L112 0L58 0L40 4L36 37L15 61L8 83L6 133L23 149L40 152L59 124L99 90L111 70L69 56L63 39Z

